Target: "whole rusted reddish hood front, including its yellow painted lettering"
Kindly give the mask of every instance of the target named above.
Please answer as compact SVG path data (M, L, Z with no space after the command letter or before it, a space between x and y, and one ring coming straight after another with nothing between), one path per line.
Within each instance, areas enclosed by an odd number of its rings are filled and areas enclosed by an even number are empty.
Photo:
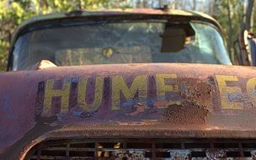
M49 67L0 74L0 85L0 158L47 138L256 137L253 67Z

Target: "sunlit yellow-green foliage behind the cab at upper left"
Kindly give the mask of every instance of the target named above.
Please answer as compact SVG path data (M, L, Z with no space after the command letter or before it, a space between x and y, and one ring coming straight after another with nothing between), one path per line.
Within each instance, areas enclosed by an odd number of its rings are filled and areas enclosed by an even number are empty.
M124 0L1 0L0 1L0 72L6 70L9 43L13 30L25 19L37 14L68 12L75 9L122 6Z

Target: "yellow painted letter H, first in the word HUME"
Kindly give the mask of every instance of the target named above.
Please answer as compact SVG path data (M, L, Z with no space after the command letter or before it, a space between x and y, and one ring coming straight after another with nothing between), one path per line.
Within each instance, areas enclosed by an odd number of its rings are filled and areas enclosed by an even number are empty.
M61 113L66 113L68 110L71 83L68 81L63 81L61 89L53 89L54 82L54 79L49 79L46 81L43 115L50 114L53 97L61 97Z

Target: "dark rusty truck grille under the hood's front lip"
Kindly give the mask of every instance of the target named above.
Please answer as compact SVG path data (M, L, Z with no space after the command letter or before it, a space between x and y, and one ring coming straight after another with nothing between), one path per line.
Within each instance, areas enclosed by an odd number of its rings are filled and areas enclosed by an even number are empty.
M41 142L25 159L256 159L256 140L61 139Z

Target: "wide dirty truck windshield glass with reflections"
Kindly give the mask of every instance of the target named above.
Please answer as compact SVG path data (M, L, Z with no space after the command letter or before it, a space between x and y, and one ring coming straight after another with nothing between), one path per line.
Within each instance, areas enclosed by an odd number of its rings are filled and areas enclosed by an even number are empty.
M57 66L187 62L231 64L223 39L207 23L116 22L35 29L19 36L13 70L49 60Z

